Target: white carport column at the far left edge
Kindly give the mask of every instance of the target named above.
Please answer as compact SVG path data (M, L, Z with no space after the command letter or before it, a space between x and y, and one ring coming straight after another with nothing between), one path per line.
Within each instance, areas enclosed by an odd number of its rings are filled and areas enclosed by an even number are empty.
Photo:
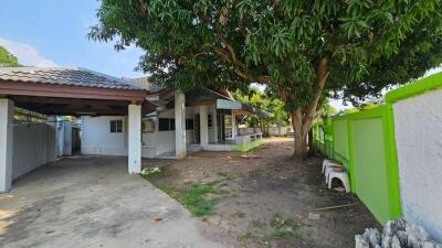
M12 184L13 112L13 101L0 99L0 193Z

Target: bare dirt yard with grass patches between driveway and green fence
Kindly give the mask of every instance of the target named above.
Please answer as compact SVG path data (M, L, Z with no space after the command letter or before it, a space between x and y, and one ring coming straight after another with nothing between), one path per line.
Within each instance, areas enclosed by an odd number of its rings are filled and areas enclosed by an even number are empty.
M166 172L149 179L159 187L217 182L227 193L200 228L227 246L352 248L356 234L379 227L356 196L327 190L320 158L294 162L292 139L265 141L248 153L204 151L181 161L145 160L144 165Z

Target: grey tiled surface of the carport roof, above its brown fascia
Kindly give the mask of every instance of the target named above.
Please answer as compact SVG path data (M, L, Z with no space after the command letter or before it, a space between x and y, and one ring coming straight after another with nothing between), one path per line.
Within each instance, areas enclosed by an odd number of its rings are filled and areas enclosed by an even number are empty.
M146 90L130 80L77 67L0 67L0 80Z

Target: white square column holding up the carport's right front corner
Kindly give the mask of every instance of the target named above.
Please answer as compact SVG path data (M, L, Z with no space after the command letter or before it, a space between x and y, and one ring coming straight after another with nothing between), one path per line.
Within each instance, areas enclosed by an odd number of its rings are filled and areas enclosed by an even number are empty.
M128 164L129 174L141 172L141 106L128 107Z

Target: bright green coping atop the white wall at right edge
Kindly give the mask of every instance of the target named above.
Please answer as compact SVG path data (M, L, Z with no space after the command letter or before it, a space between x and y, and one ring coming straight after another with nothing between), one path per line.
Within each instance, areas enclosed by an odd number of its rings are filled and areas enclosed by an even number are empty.
M442 88L442 73L436 73L434 75L415 80L412 84L391 90L387 93L385 99L387 104L394 104L399 100L418 96L438 88Z

